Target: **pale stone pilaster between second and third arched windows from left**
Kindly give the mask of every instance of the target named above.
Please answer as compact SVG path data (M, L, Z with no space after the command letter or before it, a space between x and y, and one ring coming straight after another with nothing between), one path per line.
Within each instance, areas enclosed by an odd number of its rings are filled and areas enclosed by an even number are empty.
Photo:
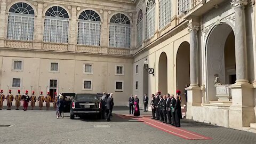
M80 10L78 8L78 10ZM76 39L77 39L77 23L76 23L76 12L77 6L72 6L71 8L71 20L70 24L70 33L69 33L69 45L68 51L76 51Z

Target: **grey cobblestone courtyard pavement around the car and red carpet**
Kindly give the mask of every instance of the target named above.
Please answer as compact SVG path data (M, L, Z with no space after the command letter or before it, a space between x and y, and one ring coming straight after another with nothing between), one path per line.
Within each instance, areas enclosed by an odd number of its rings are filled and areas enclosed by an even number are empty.
M127 107L115 107L114 114L127 114ZM151 112L143 115L150 115ZM212 140L185 140L142 122L116 115L111 122L95 119L63 119L55 111L1 110L0 143L256 143L256 134L182 119L181 128Z

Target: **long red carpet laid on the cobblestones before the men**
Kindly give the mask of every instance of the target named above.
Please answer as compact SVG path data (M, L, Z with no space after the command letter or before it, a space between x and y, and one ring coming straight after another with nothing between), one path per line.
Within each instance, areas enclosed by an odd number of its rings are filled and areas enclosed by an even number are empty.
M180 127L175 127L170 124L165 124L163 122L156 121L154 119L151 119L150 116L140 116L140 117L134 117L132 115L117 115L123 119L137 119L138 121L141 121L149 126L155 127L156 129L162 130L164 132L176 135L180 138L187 139L187 140L209 140L212 138L205 137L201 134L190 132L184 129L181 129Z

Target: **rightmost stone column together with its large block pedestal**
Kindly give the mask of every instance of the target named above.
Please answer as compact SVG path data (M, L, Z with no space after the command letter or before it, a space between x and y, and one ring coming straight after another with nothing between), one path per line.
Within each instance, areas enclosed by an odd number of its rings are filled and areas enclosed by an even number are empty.
M231 85L232 105L229 109L229 126L234 129L254 123L253 85L247 80L247 54L244 6L247 0L232 0L235 9L235 52L237 81Z

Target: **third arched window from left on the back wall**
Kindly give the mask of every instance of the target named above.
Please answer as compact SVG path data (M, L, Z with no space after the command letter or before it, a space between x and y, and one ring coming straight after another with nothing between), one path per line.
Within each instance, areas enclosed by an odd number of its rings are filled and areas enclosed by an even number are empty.
M92 10L79 15L77 44L100 46L100 16Z

